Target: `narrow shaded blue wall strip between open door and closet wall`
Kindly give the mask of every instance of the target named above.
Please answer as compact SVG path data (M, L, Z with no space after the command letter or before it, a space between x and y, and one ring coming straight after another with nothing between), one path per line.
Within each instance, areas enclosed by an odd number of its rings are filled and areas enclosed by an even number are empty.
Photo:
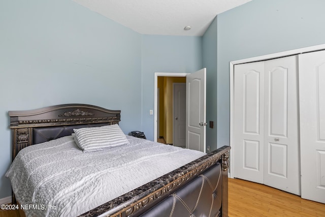
M207 136L206 145L217 149L217 19L215 18L202 37L203 68L207 68ZM213 121L214 127L209 127Z

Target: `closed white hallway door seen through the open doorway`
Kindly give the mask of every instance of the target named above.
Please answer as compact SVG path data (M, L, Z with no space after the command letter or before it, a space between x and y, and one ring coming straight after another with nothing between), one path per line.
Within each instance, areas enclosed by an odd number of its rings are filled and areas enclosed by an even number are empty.
M173 145L185 148L186 135L186 84L173 84Z

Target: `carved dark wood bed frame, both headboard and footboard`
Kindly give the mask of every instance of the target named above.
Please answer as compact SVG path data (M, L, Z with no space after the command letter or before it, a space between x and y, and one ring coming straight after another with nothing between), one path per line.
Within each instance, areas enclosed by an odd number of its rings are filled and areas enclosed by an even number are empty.
M86 104L65 104L36 110L9 111L9 116L14 160L22 148L71 135L73 129L119 123L120 110ZM119 217L145 215L170 195L182 188L189 188L188 183L217 166L221 166L222 171L222 181L219 183L222 189L219 216L228 216L229 152L230 147L223 146L80 216L98 216L103 213Z

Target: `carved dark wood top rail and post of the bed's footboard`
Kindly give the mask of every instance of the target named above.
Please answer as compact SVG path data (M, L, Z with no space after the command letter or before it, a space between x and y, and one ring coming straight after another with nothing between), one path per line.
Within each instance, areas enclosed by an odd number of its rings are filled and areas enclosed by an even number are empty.
M113 217L140 216L150 209L155 209L155 206L159 206L170 195L176 194L178 190L193 180L195 181L196 178L200 178L200 175L218 166L218 164L221 167L221 182L218 182L218 187L219 189L221 188L222 192L219 216L228 216L229 151L230 146L223 146L196 161L186 164L80 216L98 216L100 214ZM196 191L196 189L193 188L186 191ZM149 212L147 214L144 216L151 216Z

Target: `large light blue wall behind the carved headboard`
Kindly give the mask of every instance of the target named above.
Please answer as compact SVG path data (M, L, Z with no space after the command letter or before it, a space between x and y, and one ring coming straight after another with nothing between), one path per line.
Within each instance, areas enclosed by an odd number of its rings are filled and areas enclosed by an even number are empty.
M139 128L140 34L70 0L0 1L0 32L0 199L11 195L9 110L93 104L120 109L124 133Z

